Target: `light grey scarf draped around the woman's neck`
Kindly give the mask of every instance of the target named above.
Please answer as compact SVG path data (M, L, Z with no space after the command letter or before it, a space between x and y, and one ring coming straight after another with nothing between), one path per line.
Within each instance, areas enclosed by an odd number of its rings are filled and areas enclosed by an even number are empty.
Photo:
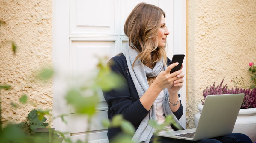
M141 97L145 91L149 88L148 82L147 82L147 76L149 77L156 77L161 71L165 70L167 67L163 64L163 59L158 61L153 69L145 66L141 61L138 59L134 63L134 66L132 68L132 64L135 61L135 58L138 55L138 52L131 48L129 46L129 43L127 42L126 45L123 48L123 54L126 57L128 69L130 71L132 80L134 82L134 85L136 87L136 90L138 92L139 97ZM174 116L174 114L171 111L171 108L169 106L168 98L169 94L167 89L164 89L164 100L163 100L163 108L164 108L164 114L165 116L172 114L173 119L177 122L177 124L180 125L178 122L178 119ZM150 119L153 119L156 121L156 107L153 104L152 107L149 110L149 114L141 121L138 129L136 130L132 141L134 142L146 142L148 143L153 136L153 133L155 129L148 125L148 121ZM181 126L181 125L180 125ZM182 126L181 126L182 127Z

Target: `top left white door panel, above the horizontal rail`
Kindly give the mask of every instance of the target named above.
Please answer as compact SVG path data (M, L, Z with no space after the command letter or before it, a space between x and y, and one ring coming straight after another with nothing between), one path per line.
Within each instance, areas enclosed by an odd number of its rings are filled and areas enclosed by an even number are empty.
M117 33L114 0L70 1L70 34Z

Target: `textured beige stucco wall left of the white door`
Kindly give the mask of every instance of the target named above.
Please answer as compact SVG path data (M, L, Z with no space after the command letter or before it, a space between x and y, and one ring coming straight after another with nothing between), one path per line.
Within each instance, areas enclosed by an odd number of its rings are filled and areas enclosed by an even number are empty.
M1 0L0 20L0 84L10 84L11 90L1 90L2 120L21 122L32 109L52 110L52 81L40 83L33 75L42 66L52 65L52 1ZM13 55L10 41L18 47ZM26 94L30 103L19 104ZM10 103L19 105L11 107ZM49 119L49 118L48 118Z

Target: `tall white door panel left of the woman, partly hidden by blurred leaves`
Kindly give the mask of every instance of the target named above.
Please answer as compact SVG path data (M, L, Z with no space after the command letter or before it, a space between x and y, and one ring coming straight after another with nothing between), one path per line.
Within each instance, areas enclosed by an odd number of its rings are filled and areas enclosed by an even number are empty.
M76 40L76 41L75 41ZM89 41L86 41L89 40ZM96 76L97 73L97 63L99 62L99 57L112 57L117 47L117 39L112 39L113 41L100 41L104 40L102 38L94 39L79 38L71 39L71 49L70 49L70 82L71 87L81 87L84 83L91 79L91 77ZM106 40L106 39L105 39ZM109 39L108 39L109 40ZM114 41L115 40L115 41ZM106 60L107 62L107 60ZM96 72L95 72L96 71ZM99 103L97 111L107 112L108 106L105 102L102 92L99 95ZM75 108L70 106L70 114L77 113ZM104 113L105 115L107 113ZM106 116L104 116L106 117ZM71 118L71 116L70 116ZM71 125L73 122L70 119ZM104 118L101 118L104 119ZM82 121L82 122L81 122ZM77 119L76 123L78 126L74 128L80 128L85 124L85 120ZM80 126L79 126L80 125ZM70 128L71 129L71 128ZM80 128L80 132L85 132L86 128ZM99 129L100 130L100 129ZM76 133L70 130L70 133Z

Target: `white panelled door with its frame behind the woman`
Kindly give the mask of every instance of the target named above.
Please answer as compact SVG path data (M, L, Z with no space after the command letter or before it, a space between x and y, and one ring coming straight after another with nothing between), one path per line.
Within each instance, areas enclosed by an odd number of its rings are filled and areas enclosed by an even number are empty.
M77 116L63 97L67 89L79 84L81 76L89 76L95 69L98 61L95 55L111 58L122 52L122 46L128 41L123 32L124 22L139 2L154 4L165 11L167 27L173 33L168 36L168 57L186 53L185 0L53 0L52 54L57 73L53 79L53 116L68 115L65 118L67 124L57 118L53 126L55 130L69 132L72 140L85 141L87 137L89 142L108 142L107 128L100 124L107 118L107 104L103 96L90 130L87 130L86 117ZM173 22L175 18L176 23ZM184 106L180 121L186 127L186 83L180 93Z

